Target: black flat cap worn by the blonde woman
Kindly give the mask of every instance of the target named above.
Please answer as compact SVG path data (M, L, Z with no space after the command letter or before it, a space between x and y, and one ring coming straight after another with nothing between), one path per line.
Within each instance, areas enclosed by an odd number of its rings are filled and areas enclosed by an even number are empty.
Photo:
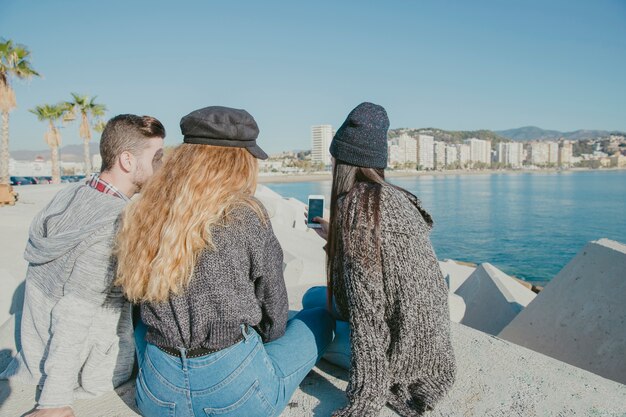
M180 131L185 143L246 148L256 158L267 159L256 144L259 127L245 110L221 106L194 110L180 119Z

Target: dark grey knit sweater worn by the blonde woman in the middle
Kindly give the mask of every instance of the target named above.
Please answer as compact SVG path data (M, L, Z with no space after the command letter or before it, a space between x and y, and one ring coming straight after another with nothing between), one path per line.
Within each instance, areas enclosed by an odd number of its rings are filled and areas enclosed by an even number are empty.
M200 254L180 295L141 304L148 342L219 350L241 337L241 324L253 326L264 342L285 333L289 303L283 251L271 223L248 206L230 217L227 226L212 228L216 249Z

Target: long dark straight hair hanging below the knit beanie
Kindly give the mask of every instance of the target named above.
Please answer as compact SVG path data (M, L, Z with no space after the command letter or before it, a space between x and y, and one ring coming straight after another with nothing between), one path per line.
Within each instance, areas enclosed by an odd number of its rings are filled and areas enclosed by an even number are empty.
M374 261L380 262L380 195L384 186L401 191L415 202L426 223L432 226L432 218L422 209L418 198L404 188L386 182L383 169L363 168L335 160L326 257L327 303L330 311L332 311L333 278L343 281L343 268L339 263L344 256L351 255L353 245L373 240L376 246ZM341 198L344 198L344 203L339 208L338 201ZM347 218L346 213L356 213L356 218ZM355 223L359 223L356 230L352 229ZM343 240L348 232L356 232L353 233L356 238L351 242ZM338 253L340 250L342 253Z

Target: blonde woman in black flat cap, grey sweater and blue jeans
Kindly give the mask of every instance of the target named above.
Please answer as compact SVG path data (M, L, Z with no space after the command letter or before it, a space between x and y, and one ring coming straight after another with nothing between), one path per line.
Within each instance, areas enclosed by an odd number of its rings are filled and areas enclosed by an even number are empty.
M287 320L283 252L253 195L256 122L207 107L125 213L118 279L140 304L144 416L277 416L333 337L323 308ZM140 327L141 329L141 327Z

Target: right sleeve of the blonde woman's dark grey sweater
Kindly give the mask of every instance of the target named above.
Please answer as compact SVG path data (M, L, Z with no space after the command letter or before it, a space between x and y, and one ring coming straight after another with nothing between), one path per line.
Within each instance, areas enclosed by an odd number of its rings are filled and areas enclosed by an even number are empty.
M261 265L254 268L260 273L260 276L255 277L255 293L262 311L261 322L256 329L264 343L285 334L289 316L289 301L283 277L283 250L271 226L266 237L260 248L261 256L257 257L257 262Z

